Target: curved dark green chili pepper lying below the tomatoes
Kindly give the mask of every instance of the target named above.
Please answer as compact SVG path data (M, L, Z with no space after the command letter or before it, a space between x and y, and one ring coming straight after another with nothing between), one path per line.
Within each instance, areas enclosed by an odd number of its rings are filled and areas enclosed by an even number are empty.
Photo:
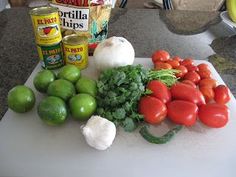
M165 135L161 137L153 136L149 131L147 126L143 126L139 133L142 135L142 137L147 140L150 143L154 144L165 144L168 141L170 141L176 133L178 133L183 128L182 125L177 125L173 129L169 130Z

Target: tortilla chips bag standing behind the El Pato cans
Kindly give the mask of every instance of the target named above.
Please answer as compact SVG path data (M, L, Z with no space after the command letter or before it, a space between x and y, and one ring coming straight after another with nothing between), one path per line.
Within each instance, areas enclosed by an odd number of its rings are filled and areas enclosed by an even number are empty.
M107 38L111 0L53 0L50 5L59 9L62 36L86 36L90 49Z

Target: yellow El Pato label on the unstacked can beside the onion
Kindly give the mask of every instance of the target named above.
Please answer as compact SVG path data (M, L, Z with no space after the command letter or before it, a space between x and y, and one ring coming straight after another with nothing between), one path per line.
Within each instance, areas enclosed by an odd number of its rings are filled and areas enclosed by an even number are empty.
M79 69L84 69L88 65L88 44L64 46L64 59L66 64L73 64Z

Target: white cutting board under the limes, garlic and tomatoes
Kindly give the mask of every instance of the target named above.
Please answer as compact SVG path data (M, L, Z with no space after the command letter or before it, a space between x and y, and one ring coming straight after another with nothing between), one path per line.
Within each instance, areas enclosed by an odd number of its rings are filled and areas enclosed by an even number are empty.
M90 64L84 75L96 78ZM212 74L219 83L222 79L213 66ZM135 63L152 67L148 58L137 58ZM27 86L41 70L38 65ZM35 91L37 103L43 96ZM139 133L117 132L114 144L106 151L89 147L80 131L82 123L69 119L64 125L44 124L35 108L26 114L8 110L0 122L0 176L22 177L235 177L236 176L236 101L232 96L230 121L222 129L206 128L197 124L184 128L167 144L155 145ZM164 133L167 124L155 127Z

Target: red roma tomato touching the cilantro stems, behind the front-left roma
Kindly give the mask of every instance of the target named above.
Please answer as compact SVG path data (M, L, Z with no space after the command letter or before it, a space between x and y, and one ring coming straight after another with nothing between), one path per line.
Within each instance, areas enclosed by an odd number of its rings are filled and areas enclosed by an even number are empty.
M170 90L164 83L158 80L150 81L147 84L147 89L152 91L151 96L158 98L163 103L167 103L171 100Z

